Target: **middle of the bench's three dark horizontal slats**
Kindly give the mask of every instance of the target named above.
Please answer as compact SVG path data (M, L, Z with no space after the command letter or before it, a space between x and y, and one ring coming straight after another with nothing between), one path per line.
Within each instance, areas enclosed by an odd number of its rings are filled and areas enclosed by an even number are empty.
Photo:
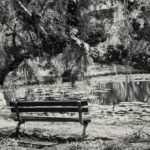
M78 112L78 107L18 107L19 112ZM11 108L11 112L16 112ZM82 112L88 112L87 107L82 108Z

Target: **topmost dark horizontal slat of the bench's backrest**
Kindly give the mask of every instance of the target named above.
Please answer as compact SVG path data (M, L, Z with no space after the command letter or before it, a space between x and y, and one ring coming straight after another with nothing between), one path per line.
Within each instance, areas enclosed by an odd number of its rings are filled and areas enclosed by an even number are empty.
M10 106L14 106L15 102L9 102ZM78 101L44 101L44 102L17 102L18 106L78 106ZM81 106L87 106L87 101L81 101Z

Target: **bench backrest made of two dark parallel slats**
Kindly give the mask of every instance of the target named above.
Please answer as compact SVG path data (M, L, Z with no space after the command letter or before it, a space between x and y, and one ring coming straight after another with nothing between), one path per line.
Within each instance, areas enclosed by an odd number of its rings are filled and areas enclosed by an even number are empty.
M88 112L87 101L9 102L11 112ZM16 109L17 106L17 109Z

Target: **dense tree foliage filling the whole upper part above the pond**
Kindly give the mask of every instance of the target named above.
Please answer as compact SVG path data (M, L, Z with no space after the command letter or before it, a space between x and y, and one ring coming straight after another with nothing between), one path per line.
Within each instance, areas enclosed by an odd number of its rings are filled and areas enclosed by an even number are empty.
M36 57L61 74L82 74L89 57L148 68L149 9L148 0L1 0L0 84Z

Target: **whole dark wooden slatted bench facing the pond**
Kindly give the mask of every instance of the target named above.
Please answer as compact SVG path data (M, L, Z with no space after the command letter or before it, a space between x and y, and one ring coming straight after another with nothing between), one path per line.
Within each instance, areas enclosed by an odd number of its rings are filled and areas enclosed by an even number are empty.
M9 102L11 112L14 113L14 120L18 121L16 136L19 134L21 124L27 121L46 121L46 122L79 122L83 125L83 137L86 136L86 128L91 122L90 118L83 116L83 112L88 113L87 101L16 101ZM37 116L37 113L78 113L78 117L49 117ZM29 114L30 113L30 114ZM36 116L34 115L36 114Z

